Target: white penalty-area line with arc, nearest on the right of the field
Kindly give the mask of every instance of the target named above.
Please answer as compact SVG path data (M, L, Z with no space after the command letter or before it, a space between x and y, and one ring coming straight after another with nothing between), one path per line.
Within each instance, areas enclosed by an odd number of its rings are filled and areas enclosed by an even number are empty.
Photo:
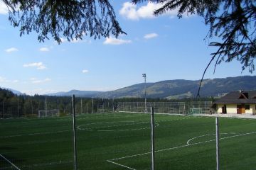
M252 134L255 134L255 133L256 133L256 131L255 132L242 133L240 135L233 135L233 136L229 136L229 137L221 137L219 140L225 140L225 139L229 139L229 138L233 138L233 137L240 137L240 136L244 136L244 135L252 135ZM233 133L231 133L231 134L233 134ZM204 136L207 136L207 135L204 135ZM201 136L198 136L198 137L201 137ZM196 137L192 137L188 141L191 141L192 139L196 139ZM178 147L170 147L170 148L166 148L166 149L159 149L159 150L156 150L155 153L156 152L164 152L164 151L171 150L171 149L178 149L178 148L182 148L182 147L191 147L193 145L200 145L200 144L204 144L204 143L207 143L207 142L213 142L213 141L215 141L215 140L206 140L206 141L203 141L203 142L196 142L196 143L189 144L189 145L187 144L187 145L181 145L181 146L178 146ZM187 142L187 143L189 143L189 142ZM144 154L151 154L151 152L145 152L145 153L142 153L142 154L133 154L133 155L130 155L130 156L127 156L127 157L114 158L114 159L107 160L107 162L110 162L112 164L117 164L119 166L126 167L123 164L118 164L117 162L114 162L114 161L117 161L119 159L131 158L131 157L139 157L139 156L142 156ZM128 167L127 169L132 169L132 168ZM136 169L134 169L134 170L136 170Z

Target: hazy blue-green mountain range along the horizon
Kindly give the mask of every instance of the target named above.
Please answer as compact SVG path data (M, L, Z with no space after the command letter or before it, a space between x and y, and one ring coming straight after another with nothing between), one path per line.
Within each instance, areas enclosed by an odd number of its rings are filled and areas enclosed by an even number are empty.
M146 83L148 98L190 98L196 97L201 80L166 80ZM144 83L134 84L114 91L78 91L58 92L48 96L71 96L95 98L140 98L144 97ZM223 96L230 91L256 90L256 76L227 77L223 79L204 79L201 85L202 97Z

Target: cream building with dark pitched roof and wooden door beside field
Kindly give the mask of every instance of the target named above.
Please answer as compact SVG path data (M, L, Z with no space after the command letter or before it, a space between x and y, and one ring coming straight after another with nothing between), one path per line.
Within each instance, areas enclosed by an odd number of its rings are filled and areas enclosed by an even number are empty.
M256 91L232 91L213 103L217 113L256 114Z

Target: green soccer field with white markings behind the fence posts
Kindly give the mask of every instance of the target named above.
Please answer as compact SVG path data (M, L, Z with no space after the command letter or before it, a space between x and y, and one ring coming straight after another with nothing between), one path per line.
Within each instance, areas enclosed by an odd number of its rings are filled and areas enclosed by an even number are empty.
M215 169L215 118L155 115L156 169ZM73 169L70 116L0 120L0 169ZM220 169L255 169L256 120L220 118ZM150 115L77 117L78 169L150 169ZM12 165L13 164L13 165Z

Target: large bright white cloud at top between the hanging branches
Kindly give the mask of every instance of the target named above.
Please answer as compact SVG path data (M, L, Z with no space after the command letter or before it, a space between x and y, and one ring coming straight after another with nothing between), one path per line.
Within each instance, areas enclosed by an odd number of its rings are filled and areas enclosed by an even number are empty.
M140 6L138 8L136 4L125 2L119 10L119 14L130 20L139 20L139 18L155 18L156 16L154 16L154 11L161 6L163 6L163 4L149 1L145 6ZM177 11L167 11L164 15L173 18L174 16L177 16Z

